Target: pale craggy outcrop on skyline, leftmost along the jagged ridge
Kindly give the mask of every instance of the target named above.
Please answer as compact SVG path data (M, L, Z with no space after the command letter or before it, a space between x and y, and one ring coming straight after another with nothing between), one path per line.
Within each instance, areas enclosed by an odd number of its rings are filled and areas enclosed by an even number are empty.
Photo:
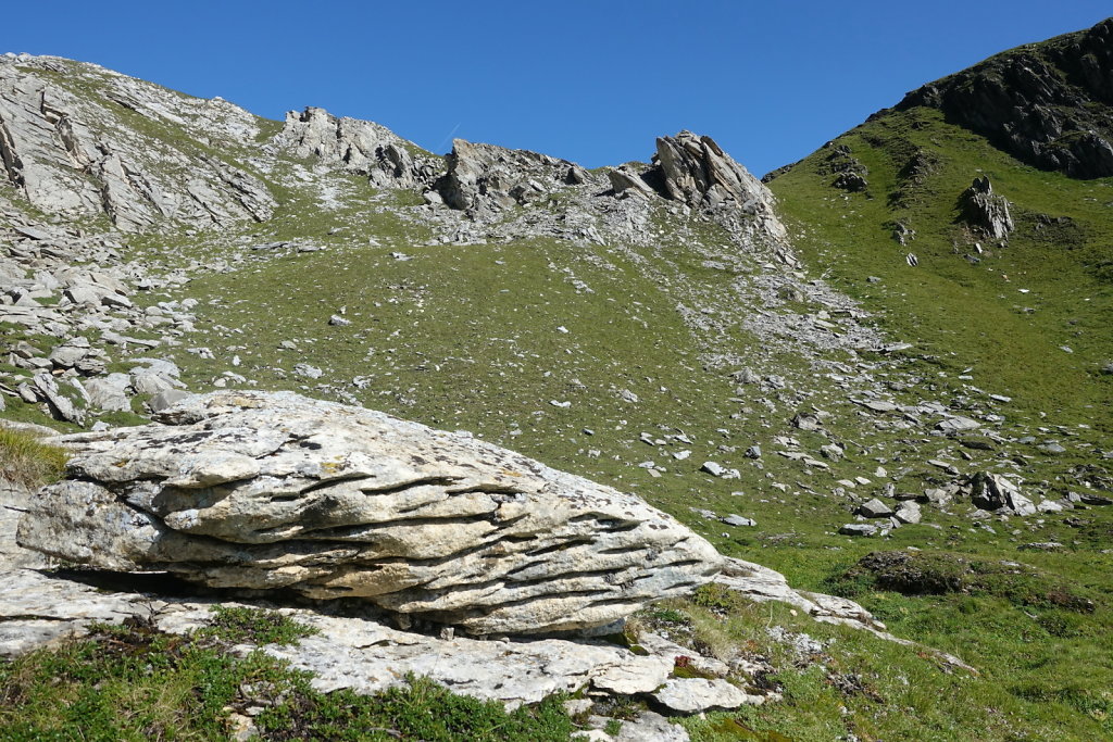
M435 158L374 121L337 118L323 108L288 111L275 144L295 157L314 158L367 176L380 188L420 188L437 174Z

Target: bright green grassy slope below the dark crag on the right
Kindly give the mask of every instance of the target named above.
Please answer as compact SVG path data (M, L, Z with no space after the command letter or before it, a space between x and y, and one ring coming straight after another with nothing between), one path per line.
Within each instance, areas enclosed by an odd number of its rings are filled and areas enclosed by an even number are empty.
M833 145L869 168L875 197L831 188L820 174L827 149L772 180L804 257L896 337L915 338L917 356L951 375L972 368L975 384L1013 397L1014 414L1113 433L1113 379L1099 373L1113 350L1113 284L1103 273L1113 260L1113 179L1036 170L929 109L888 112ZM915 151L935 165L910 182L902 171ZM1013 205L1017 229L1004 247L958 220L958 196L983 175ZM896 219L916 230L906 247L885 226Z

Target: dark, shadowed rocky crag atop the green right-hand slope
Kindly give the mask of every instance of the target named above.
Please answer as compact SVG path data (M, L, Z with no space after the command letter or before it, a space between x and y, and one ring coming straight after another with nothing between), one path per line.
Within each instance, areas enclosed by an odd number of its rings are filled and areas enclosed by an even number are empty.
M1113 19L1026 44L908 93L1015 157L1075 178L1113 175Z

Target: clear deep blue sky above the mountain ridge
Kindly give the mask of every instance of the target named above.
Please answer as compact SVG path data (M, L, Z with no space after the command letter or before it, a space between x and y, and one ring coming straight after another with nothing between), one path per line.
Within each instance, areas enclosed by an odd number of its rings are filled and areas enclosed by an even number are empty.
M11 0L0 51L97 62L282 118L322 106L588 167L692 129L760 175L1109 0Z

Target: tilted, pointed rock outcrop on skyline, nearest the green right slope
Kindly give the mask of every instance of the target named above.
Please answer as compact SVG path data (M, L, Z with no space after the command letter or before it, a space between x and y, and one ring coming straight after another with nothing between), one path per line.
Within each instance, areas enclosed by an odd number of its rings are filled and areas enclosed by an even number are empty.
M711 137L681 131L660 137L653 164L668 198L692 208L728 208L756 217L769 235L784 239L772 194Z

